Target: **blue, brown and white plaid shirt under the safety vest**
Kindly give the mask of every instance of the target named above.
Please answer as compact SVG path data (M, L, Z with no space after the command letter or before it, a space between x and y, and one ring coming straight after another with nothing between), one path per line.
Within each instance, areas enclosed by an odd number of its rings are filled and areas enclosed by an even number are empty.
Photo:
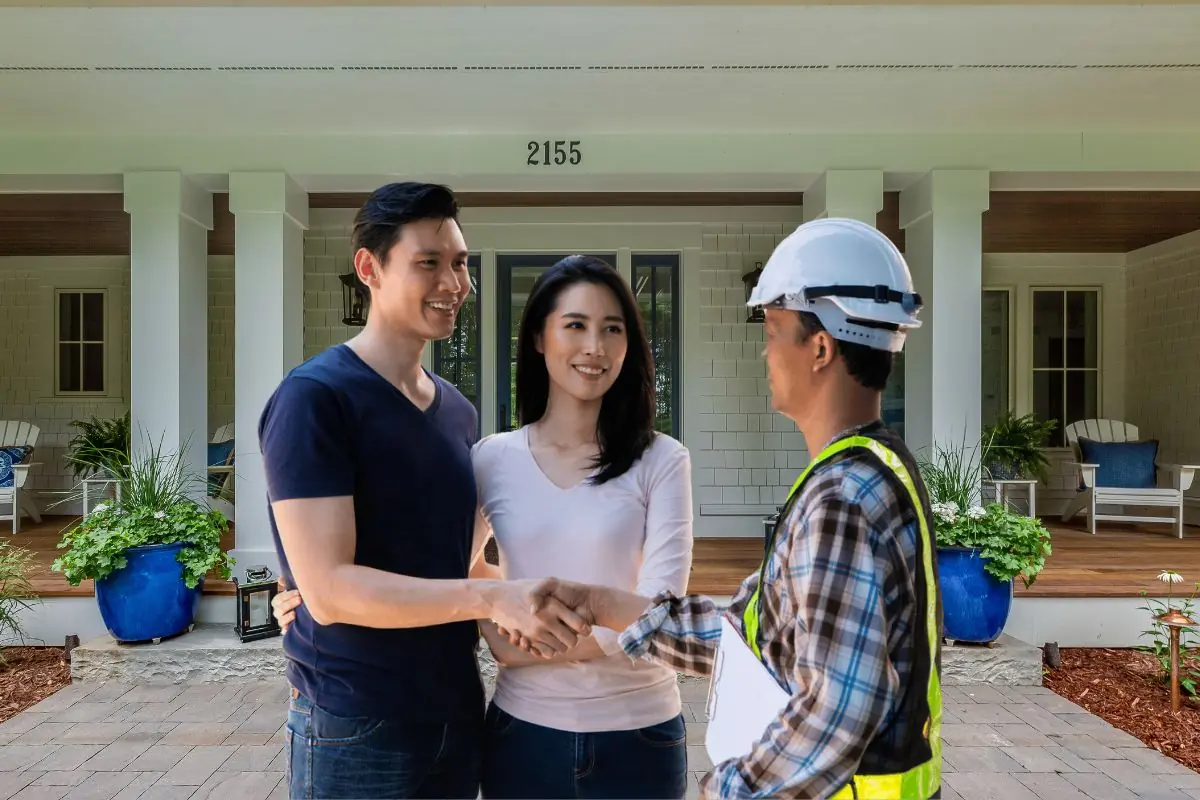
M792 697L746 756L704 776L702 796L828 798L869 742L899 740L899 687L911 648L925 646L912 640L920 531L883 469L862 453L823 464L792 505L767 565L758 636ZM730 607L743 636L757 584L756 572ZM708 597L662 594L620 643L632 657L708 676L721 613Z

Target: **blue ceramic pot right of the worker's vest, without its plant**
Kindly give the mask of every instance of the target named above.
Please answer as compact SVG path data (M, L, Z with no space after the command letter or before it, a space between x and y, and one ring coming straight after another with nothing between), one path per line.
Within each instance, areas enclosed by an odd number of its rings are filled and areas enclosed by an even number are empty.
M985 563L973 548L937 548L947 639L988 644L1003 632L1013 608L1013 582L988 575Z

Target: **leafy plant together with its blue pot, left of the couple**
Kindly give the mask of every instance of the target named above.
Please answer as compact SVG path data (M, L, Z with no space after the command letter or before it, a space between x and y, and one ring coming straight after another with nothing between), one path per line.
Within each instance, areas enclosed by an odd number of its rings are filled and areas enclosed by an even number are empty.
M204 576L230 576L221 549L229 523L205 505L204 479L180 453L148 443L128 463L110 464L116 499L70 528L53 565L71 585L96 582L96 602L118 642L156 640L188 631ZM200 499L198 499L200 498Z

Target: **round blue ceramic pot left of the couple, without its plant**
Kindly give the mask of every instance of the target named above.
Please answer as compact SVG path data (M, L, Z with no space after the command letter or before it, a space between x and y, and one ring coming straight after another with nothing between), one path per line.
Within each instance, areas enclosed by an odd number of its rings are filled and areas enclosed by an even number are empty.
M118 642L146 642L185 632L196 619L204 589L184 583L178 557L182 543L148 545L126 551L122 569L96 582L96 602Z

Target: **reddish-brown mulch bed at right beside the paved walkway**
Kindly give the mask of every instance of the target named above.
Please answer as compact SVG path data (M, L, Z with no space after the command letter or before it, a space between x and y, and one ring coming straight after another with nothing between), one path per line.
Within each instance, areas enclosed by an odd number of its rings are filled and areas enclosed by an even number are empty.
M1172 715L1170 690L1158 672L1158 662L1138 650L1070 648L1062 650L1058 669L1046 669L1045 686L1200 771L1200 703L1181 688L1183 705Z

